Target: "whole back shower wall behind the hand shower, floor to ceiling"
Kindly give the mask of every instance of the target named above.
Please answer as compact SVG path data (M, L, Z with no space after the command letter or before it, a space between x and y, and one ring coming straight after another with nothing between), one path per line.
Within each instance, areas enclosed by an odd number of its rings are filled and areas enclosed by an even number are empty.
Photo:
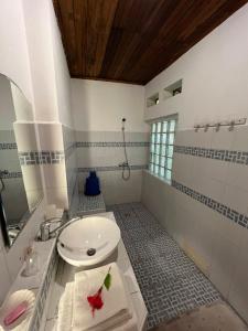
M140 201L142 170L148 167L149 126L143 122L144 88L129 84L72 79L77 188L89 170L100 178L106 204ZM125 161L121 119L131 177L121 178Z

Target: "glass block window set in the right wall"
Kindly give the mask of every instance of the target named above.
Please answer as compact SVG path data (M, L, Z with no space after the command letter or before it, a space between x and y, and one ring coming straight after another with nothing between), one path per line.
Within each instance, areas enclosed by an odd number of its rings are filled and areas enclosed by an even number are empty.
M149 169L171 182L176 119L170 118L151 125Z

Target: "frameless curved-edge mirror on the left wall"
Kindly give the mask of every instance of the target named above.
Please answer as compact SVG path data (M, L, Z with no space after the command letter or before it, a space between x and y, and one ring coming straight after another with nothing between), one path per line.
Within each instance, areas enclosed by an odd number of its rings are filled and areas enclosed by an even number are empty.
M33 110L0 74L0 221L11 246L43 197Z

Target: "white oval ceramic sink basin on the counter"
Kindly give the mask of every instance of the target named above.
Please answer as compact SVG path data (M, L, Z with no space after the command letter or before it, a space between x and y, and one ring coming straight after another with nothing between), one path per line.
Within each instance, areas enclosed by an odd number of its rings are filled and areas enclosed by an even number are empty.
M57 250L68 264L83 267L104 261L120 241L118 225L107 217L73 221L58 236Z

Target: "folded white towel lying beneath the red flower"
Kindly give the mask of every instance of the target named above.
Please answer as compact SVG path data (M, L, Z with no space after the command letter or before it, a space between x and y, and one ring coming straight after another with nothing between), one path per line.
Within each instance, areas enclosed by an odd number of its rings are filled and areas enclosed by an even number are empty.
M100 310L96 310L93 318L87 296L97 292L110 266L110 289L103 290L104 307ZM77 273L75 275L73 308L73 331L111 330L114 327L118 327L130 320L132 318L132 310L129 308L129 301L118 266L114 263L97 269Z

